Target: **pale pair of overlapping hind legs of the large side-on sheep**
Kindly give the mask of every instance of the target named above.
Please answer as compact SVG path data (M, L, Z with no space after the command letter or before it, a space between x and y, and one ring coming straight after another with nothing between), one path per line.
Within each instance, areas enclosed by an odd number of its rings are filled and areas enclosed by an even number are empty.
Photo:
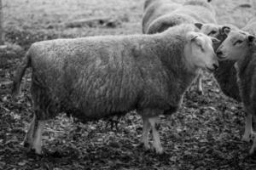
M37 154L42 154L42 133L44 122L39 121L36 114L32 118L32 122L24 139L24 146L29 150L35 150Z

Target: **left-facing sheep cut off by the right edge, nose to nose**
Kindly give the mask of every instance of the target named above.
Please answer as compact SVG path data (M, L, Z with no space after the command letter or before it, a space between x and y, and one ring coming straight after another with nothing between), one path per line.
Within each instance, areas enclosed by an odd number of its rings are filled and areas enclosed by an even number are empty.
M253 25L251 25L253 26ZM245 28L248 28L247 26ZM253 27L251 27L253 29ZM254 30L255 31L255 27ZM217 49L220 59L229 59L236 62L237 83L241 101L244 105L247 120L246 124L250 130L249 134L255 135L252 129L252 116L256 115L256 42L255 37L247 31L228 31L228 37ZM248 126L248 127L247 127ZM245 133L245 135L246 135ZM253 146L249 153L253 155L256 148L256 138L253 139Z

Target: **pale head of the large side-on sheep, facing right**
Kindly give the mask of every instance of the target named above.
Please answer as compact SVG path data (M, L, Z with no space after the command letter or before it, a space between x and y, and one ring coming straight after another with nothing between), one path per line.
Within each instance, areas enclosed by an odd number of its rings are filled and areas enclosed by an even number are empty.
M185 47L185 55L189 65L194 68L215 71L218 68L218 59L212 48L212 42L218 42L215 37L190 31L187 34L188 43Z

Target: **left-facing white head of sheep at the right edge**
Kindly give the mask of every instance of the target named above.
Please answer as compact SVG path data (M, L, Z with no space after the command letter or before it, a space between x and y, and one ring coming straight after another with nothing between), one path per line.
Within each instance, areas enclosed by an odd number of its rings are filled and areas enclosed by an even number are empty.
M245 31L230 31L228 37L218 47L218 59L242 59L254 42L255 37Z

